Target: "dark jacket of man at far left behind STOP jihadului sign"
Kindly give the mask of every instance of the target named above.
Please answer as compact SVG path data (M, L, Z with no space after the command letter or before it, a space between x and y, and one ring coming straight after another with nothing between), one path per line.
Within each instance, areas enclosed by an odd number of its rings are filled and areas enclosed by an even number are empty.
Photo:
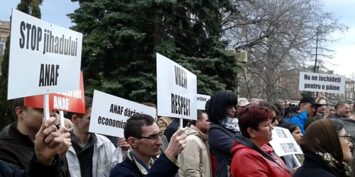
M15 125L9 127L9 132L0 137L0 160L18 166L18 169L28 170L29 163L35 154L35 143L17 130ZM66 156L62 157L61 164L63 177L70 176Z

